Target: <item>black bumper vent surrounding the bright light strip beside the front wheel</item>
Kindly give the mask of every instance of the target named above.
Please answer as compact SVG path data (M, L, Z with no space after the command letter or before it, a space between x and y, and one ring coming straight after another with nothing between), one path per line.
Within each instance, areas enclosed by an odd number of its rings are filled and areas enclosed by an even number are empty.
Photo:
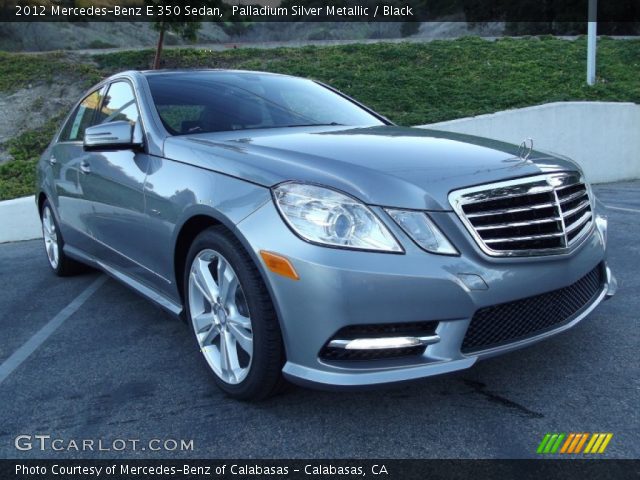
M438 322L406 322L406 323L381 323L371 325L349 325L341 328L331 337L334 339L352 340L354 338L380 338L415 336L426 337L433 335L438 327ZM411 357L422 355L425 345L405 348L384 348L375 350L346 350L344 348L330 347L329 342L320 351L323 360L380 360L385 358Z

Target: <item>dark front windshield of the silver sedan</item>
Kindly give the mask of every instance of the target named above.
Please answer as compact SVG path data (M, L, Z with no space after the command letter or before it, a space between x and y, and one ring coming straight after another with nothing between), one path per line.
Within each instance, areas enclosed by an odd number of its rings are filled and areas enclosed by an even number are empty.
M248 72L147 75L169 133L187 135L308 125L383 125L376 116L311 80Z

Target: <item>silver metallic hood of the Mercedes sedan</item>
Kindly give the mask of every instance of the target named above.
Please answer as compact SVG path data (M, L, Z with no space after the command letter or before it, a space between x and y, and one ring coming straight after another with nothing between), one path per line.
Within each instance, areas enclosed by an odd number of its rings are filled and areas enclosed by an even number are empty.
M271 187L327 185L370 205L450 210L452 190L577 170L568 159L469 135L397 126L294 127L169 137L166 158Z

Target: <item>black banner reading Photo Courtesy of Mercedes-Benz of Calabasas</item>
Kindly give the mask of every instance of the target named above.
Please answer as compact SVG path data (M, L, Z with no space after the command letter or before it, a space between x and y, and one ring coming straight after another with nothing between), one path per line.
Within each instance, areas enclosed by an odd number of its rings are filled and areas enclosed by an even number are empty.
M638 460L0 460L8 479L625 480Z

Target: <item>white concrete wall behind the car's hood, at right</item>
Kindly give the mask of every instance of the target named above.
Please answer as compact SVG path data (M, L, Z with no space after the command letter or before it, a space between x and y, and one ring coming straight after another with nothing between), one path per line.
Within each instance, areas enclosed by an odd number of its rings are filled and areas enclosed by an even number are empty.
M566 155L593 183L640 178L640 105L557 102L421 127L478 135Z

